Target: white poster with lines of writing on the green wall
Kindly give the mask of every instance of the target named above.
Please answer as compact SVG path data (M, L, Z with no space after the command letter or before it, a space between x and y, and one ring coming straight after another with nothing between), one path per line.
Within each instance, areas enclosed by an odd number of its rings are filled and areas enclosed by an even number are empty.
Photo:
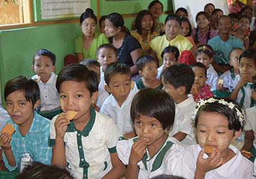
M90 0L41 0L42 19L79 17Z

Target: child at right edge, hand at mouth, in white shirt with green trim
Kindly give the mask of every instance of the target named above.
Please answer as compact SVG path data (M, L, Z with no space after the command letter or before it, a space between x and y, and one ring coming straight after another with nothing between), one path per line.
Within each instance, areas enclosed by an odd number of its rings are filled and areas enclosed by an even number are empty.
M242 104L245 109L254 106L252 91L254 85L252 83L256 76L256 53L249 48L243 51L239 57L239 72L234 79L234 90L230 94L230 98Z

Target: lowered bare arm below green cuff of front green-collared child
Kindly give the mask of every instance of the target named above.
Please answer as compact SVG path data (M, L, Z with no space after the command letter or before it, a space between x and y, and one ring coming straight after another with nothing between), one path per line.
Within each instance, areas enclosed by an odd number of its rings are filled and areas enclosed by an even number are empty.
M103 177L103 178L121 178L123 177L126 167L124 164L120 161L120 159L117 156L117 153L110 153L111 163L113 168Z

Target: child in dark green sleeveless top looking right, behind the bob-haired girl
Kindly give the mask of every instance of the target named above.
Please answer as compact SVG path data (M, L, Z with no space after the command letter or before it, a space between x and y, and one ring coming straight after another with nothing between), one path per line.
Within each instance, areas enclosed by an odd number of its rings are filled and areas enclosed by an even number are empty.
M135 84L138 90L143 88L156 88L161 90L163 85L161 81L157 79L157 63L151 55L142 55L136 61L136 66L139 70L139 75L142 78L138 79Z

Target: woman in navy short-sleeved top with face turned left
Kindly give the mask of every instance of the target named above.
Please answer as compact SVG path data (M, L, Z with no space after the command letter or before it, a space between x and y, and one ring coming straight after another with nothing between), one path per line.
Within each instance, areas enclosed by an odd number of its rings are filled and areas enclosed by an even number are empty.
M141 56L141 45L135 37L130 35L124 26L124 19L118 13L109 14L105 19L105 34L110 38L110 43L117 48L117 58L127 64L132 72L132 79L138 79L137 59Z

